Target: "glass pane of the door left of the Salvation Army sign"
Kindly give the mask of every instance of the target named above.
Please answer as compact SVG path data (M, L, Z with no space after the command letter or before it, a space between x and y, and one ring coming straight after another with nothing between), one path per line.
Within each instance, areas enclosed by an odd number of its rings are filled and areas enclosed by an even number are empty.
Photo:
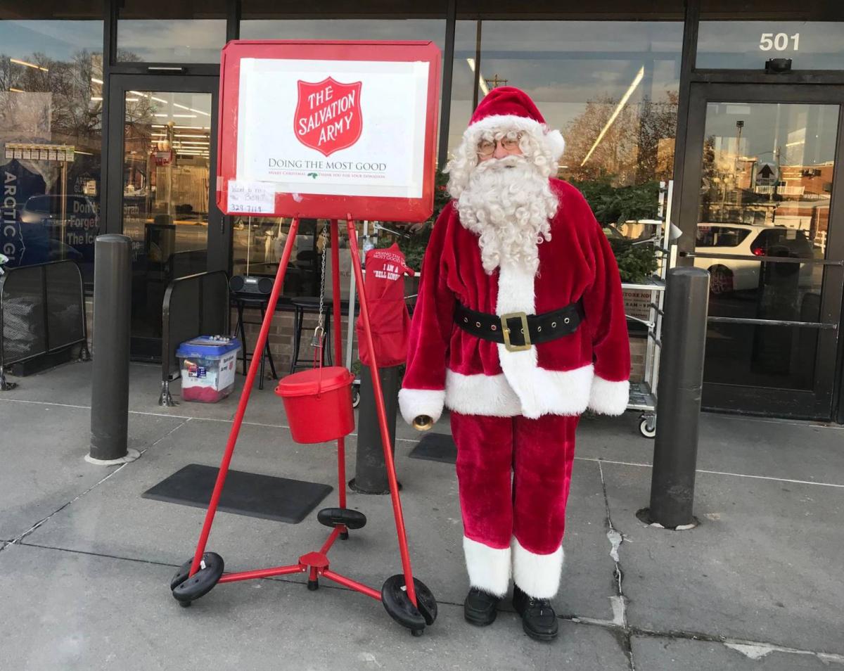
M161 337L170 282L208 268L211 95L132 90L124 97L122 230L132 238L139 343Z

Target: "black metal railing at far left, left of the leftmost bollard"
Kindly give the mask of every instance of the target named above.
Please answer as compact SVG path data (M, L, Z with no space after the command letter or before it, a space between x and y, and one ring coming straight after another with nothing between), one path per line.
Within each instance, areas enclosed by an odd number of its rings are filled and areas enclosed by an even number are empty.
M4 268L0 276L0 390L9 365L82 344L90 359L82 273L73 261Z

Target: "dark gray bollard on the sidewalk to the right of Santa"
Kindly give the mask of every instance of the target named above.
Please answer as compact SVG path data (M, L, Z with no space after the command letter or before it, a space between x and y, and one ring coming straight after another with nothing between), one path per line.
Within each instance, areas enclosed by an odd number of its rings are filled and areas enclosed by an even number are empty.
M696 523L692 506L708 301L706 270L668 271L651 507L646 513L647 522L658 522L666 528Z

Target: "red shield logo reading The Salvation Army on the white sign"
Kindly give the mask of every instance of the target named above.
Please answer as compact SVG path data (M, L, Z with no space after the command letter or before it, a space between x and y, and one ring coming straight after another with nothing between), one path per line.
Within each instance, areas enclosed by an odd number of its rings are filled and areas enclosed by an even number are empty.
M300 143L323 156L351 147L360 138L362 82L340 84L333 77L317 84L298 82L299 101L293 117L294 133Z

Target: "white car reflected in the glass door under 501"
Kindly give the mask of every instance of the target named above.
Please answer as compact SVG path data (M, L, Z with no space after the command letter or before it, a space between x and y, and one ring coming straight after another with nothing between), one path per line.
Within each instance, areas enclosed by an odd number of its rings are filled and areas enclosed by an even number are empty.
M695 267L710 273L713 294L755 290L759 287L761 262L752 257L813 258L812 243L803 230L783 226L749 224L698 224L695 252L730 254L746 260L697 257ZM812 284L812 266L800 264L800 284Z

